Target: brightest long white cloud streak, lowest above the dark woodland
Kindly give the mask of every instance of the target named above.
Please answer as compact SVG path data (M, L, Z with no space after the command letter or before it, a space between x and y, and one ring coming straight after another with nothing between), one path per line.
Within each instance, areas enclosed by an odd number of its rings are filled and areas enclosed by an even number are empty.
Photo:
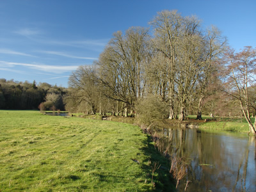
M0 61L0 65L8 65L10 67L14 66L22 66L28 67L35 70L40 70L44 72L52 72L54 74L61 74L63 72L70 72L72 70L76 70L77 65L69 65L69 66L58 66L58 65L44 65L44 64L30 64L30 63L15 63L15 62L8 62L8 61Z

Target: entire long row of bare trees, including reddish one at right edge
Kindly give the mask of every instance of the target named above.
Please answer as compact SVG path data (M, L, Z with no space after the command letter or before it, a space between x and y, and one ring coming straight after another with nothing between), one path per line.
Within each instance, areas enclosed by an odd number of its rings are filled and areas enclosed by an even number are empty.
M255 49L236 54L216 27L204 29L198 18L177 11L157 13L150 26L151 31L117 31L93 66L73 72L68 106L184 120L188 113L200 119L203 109L221 113L228 105L230 114L243 113L255 132L250 122L255 100L249 99L255 87Z

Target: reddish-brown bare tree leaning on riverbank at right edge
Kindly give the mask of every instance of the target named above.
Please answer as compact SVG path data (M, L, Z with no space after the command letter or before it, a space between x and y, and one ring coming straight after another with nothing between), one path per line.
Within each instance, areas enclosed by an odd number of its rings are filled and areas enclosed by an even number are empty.
M255 125L250 118L249 88L256 83L256 49L244 47L243 51L235 53L234 49L229 49L226 53L227 64L223 68L225 79L224 90L239 101L243 115L248 122L250 132L256 134ZM256 121L255 121L256 122Z

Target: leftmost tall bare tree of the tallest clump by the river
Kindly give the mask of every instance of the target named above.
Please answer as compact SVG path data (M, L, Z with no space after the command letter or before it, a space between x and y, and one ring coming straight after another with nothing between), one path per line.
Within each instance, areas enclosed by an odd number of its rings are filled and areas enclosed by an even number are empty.
M170 115L169 118L175 118L173 111L175 102L175 85L174 78L176 73L177 46L179 45L182 16L177 11L168 11L157 13L156 17L150 22L154 29L154 47L161 52L164 57L168 58L166 72L168 74L169 85L169 102Z

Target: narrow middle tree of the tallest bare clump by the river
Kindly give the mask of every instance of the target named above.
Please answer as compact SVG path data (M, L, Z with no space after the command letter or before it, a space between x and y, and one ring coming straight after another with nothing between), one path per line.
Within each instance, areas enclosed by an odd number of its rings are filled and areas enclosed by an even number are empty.
M205 42L200 31L200 20L196 17L183 19L181 34L174 81L177 84L177 101L180 106L179 119L184 120L189 97L195 92L195 85L202 73Z

